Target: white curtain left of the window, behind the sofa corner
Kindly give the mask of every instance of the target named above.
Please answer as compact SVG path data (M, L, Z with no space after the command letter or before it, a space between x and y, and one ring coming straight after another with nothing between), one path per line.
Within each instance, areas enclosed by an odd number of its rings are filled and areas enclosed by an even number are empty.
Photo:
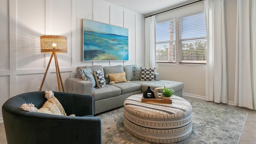
M155 16L145 18L145 67L156 67Z

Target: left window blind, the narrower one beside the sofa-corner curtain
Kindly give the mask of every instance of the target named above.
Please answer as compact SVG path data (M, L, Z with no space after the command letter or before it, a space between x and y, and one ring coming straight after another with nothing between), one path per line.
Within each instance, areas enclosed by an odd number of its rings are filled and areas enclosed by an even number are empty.
M175 19L156 23L156 62L176 62Z

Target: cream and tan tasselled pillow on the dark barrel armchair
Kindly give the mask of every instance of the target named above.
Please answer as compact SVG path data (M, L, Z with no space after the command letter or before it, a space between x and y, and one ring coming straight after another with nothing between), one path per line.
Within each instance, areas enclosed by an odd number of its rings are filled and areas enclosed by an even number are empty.
M62 116L67 115L64 108L60 104L59 100L54 96L54 93L52 91L45 91L45 98L47 98L48 100L39 110L34 107L34 104L22 104L20 108L28 112L41 112L45 114L56 114Z

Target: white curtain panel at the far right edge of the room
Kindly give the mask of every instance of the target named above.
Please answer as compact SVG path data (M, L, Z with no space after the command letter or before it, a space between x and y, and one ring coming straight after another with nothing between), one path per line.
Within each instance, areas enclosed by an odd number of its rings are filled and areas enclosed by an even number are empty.
M237 0L234 104L256 106L256 0Z

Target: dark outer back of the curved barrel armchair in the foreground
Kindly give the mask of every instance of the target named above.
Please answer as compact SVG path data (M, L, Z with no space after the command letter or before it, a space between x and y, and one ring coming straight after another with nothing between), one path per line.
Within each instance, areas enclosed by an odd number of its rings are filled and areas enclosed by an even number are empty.
M27 112L14 116L3 110L10 144L101 144L101 121L96 117L58 116Z

